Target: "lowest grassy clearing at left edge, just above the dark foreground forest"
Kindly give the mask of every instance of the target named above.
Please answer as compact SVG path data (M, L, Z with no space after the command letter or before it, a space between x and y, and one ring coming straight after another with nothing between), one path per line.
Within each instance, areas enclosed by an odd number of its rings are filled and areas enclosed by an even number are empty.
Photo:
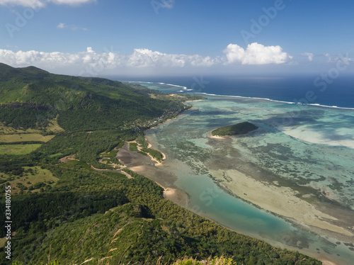
M22 184L29 188L30 186L35 186L35 184L41 182L52 185L58 181L58 179L53 176L52 172L47 169L41 169L40 167L23 167L23 169L25 169L23 176L10 176L4 173L0 174L0 179L6 180L10 184L11 192L13 193L21 191L21 188L18 188L18 184ZM33 189L32 192L35 191L40 191L40 189Z

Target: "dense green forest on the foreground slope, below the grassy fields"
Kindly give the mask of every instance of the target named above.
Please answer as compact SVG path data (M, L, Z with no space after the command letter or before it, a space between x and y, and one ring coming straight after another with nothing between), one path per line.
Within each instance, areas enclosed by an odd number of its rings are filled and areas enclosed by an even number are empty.
M13 196L13 256L25 264L166 263L181 256L225 254L239 264L320 264L205 220L166 201L144 176L126 179L86 169L48 167L50 191ZM4 222L4 220L1 220ZM1 252L4 255L4 252ZM0 256L5 260L4 256Z

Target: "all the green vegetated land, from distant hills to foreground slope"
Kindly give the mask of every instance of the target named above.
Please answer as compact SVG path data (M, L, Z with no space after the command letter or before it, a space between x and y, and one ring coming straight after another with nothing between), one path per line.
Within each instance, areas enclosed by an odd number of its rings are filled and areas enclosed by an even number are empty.
M188 109L184 101L200 98L5 64L0 92L1 146L10 147L0 153L0 200L4 208L11 186L12 221L12 260L1 246L0 264L198 264L197 258L222 255L224 264L321 264L195 215L130 169L122 173L131 179L95 170L112 169L99 160L119 162L115 155L132 140L140 152L162 160L142 131ZM24 132L54 137L21 139ZM33 140L40 143L28 144ZM11 151L16 145L38 146ZM5 218L0 215L2 224Z

